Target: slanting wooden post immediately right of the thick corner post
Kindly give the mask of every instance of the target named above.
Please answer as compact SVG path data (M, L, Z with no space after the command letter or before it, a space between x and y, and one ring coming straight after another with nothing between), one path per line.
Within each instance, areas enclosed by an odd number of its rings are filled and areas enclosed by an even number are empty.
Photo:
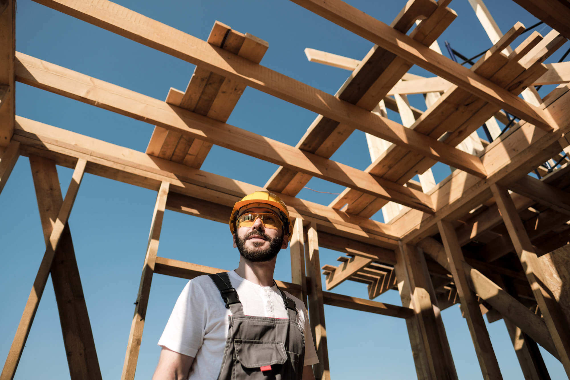
M451 267L455 287L461 300L461 309L467 320L467 325L469 325L469 332L471 339L473 339L483 378L486 380L502 379L499 363L495 357L495 351L491 345L481 309L479 309L475 294L469 289L469 282L467 282L465 270L463 270L465 258L463 258L455 229L451 223L443 220L438 221L437 226Z

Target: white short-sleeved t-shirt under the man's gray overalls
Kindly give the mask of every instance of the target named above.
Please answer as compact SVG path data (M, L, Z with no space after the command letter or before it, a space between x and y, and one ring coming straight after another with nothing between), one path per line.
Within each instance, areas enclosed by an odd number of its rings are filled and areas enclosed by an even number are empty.
M239 277L234 270L227 273L237 290L246 316L287 318L283 298L274 286L259 286ZM304 365L319 362L309 328L307 311L302 301L295 300L297 320L305 334ZM215 379L222 366L223 351L229 330L230 309L209 276L188 281L182 290L158 345L194 357L189 379Z

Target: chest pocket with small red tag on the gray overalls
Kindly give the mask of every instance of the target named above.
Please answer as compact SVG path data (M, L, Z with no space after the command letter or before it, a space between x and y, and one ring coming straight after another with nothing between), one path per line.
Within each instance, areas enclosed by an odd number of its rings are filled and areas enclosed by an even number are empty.
M288 378L291 365L283 341L235 339L234 353L234 379ZM268 366L271 366L271 369Z

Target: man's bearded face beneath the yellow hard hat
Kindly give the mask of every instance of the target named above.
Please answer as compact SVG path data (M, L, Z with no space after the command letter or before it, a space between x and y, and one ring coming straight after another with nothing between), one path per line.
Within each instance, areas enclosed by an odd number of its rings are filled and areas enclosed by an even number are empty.
M240 212L273 213L279 212L271 207L251 207ZM265 228L260 218L251 227L239 227L234 235L234 247L239 254L250 262L270 261L282 248L287 248L288 237L283 236L282 229Z

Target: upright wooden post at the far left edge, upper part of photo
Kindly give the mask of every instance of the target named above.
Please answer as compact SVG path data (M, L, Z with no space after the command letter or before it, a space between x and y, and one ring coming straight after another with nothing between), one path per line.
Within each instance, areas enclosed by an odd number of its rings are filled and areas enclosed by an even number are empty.
M0 103L0 147L6 147L14 132L14 54L16 49L16 1L2 2L0 13L0 84L8 90ZM5 87L2 87L5 89Z

